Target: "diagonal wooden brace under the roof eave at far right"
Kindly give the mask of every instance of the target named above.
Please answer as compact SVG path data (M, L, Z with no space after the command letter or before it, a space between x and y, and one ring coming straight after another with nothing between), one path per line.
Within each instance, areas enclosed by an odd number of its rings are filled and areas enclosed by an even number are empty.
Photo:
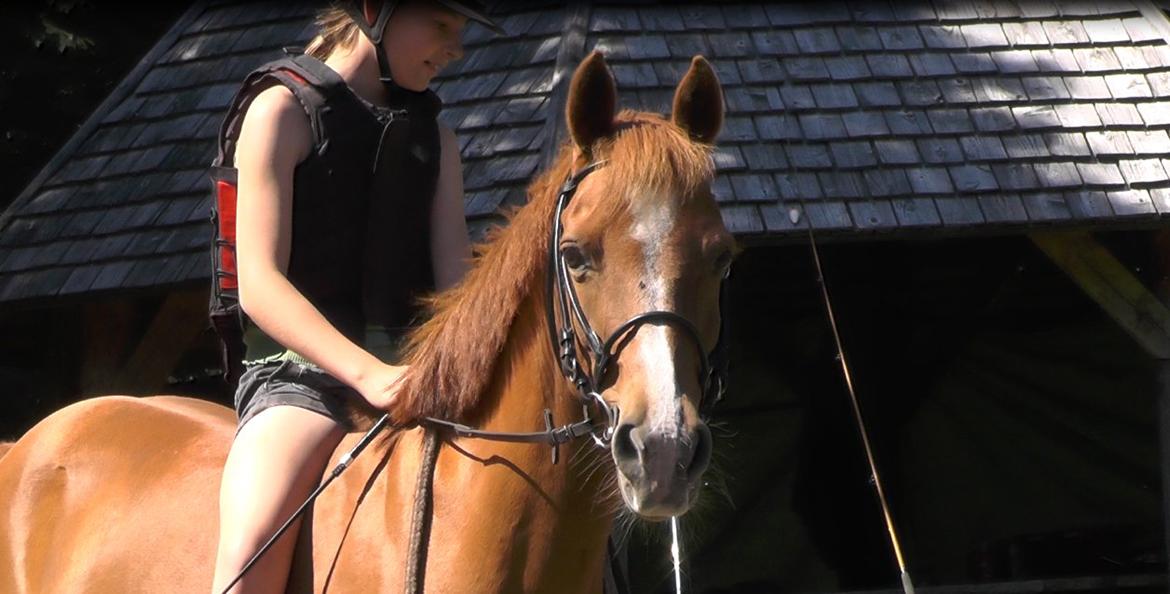
M1147 353L1170 359L1170 310L1093 235L1045 232L1030 236Z

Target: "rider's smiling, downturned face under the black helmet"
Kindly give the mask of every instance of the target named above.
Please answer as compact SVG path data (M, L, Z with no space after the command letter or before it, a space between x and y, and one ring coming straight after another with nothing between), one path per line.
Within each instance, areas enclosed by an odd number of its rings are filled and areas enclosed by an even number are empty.
M402 2L394 9L383 47L394 82L421 91L449 62L463 57L461 36L467 18L438 2Z

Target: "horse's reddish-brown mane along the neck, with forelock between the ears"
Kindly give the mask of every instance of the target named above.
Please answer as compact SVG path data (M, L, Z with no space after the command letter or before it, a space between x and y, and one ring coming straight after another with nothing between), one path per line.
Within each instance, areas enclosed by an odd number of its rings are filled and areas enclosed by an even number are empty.
M606 178L624 189L605 194L615 209L635 194L686 199L710 182L710 146L661 116L622 111L614 124L617 132L593 147L593 158L607 160ZM521 304L544 279L552 210L573 158L573 147L562 146L553 165L529 186L528 205L476 249L463 281L429 299L433 316L407 343L400 413L456 420L479 403Z

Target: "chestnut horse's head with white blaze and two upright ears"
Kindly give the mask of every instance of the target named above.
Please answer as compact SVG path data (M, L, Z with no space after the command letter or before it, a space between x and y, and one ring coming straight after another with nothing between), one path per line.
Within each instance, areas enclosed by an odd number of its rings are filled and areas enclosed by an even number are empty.
M601 340L618 333L600 388L620 410L611 450L622 499L662 519L690 507L711 455L701 367L718 339L720 285L734 250L710 187L722 89L696 56L669 120L615 111L613 76L594 53L573 75L566 115L574 170L605 164L566 207L559 250L589 324ZM618 332L649 311L682 320L652 318Z

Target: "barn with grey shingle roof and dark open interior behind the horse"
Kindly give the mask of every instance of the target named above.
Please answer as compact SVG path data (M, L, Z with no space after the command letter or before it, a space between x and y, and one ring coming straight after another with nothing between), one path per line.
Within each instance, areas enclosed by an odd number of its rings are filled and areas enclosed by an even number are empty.
M688 592L900 590L821 275L920 592L1165 592L1165 5L528 1L468 28L435 89L476 237L563 141L589 51L624 106L668 111L695 54L724 85L745 251ZM194 4L0 215L0 429L95 394L230 401L206 168L314 12ZM633 590L673 592L661 526L622 536Z

